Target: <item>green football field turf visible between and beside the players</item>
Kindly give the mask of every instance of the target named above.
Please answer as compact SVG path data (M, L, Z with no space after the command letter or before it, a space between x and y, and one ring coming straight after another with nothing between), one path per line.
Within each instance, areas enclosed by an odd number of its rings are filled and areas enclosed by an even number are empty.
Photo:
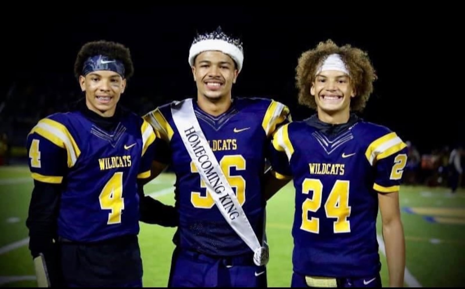
M146 194L173 204L174 177L163 174L147 184ZM33 263L27 249L25 221L32 190L27 167L0 167L0 286L35 287ZM465 281L465 191L403 186L407 287L458 287ZM288 184L267 206L270 245L269 287L289 287L292 265L293 190ZM378 233L381 222L378 219ZM173 228L141 223L140 246L144 286L166 287L173 251ZM384 244L380 241L383 286L388 286Z

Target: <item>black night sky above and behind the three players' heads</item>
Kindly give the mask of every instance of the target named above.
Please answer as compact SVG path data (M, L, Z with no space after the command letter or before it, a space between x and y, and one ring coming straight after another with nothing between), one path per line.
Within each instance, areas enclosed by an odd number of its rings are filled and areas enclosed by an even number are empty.
M294 69L302 52L331 38L339 45L359 46L371 56L379 80L362 115L367 120L387 125L424 151L463 135L464 111L450 100L451 93L453 99L463 95L463 81L451 76L456 65L446 59L448 54L440 54L455 53L451 41L458 36L453 28L458 27L457 18L438 20L418 13L415 7L407 11L404 7L367 6L376 13L351 13L337 2L324 9L312 3L292 8L211 5L140 9L76 3L73 5L93 7L4 11L4 17L13 20L0 20L6 27L2 32L6 47L2 98L18 79L53 86L59 75L69 81L70 90L78 89L73 78L75 55L82 44L96 39L119 41L131 49L135 74L123 96L125 105L131 106L131 99L142 95L157 96L154 105L195 96L187 63L189 46L196 31L220 25L244 42L244 68L233 95L273 98L289 105L295 120L308 117L312 111L297 104ZM385 12L384 16L380 12ZM446 131L449 129L456 132Z

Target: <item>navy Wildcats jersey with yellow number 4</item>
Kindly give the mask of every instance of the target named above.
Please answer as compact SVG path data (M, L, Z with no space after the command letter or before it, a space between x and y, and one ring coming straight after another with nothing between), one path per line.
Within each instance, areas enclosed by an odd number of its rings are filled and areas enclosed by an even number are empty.
M58 235L79 242L139 232L137 178L150 177L155 133L126 113L105 131L81 112L41 119L27 136L35 180L62 184Z

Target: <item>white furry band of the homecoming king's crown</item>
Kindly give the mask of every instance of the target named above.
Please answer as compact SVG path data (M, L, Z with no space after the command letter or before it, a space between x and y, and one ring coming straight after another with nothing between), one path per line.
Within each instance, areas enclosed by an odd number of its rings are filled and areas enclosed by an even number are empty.
M229 55L236 62L239 72L242 69L244 53L234 44L221 39L205 39L194 43L189 49L189 64L193 66L195 57L209 50L217 50Z

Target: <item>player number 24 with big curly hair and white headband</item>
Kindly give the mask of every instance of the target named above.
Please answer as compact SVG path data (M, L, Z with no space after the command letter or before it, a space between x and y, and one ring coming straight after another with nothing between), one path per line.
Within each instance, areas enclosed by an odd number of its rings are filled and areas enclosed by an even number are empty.
M381 287L378 207L389 285L404 284L405 243L399 186L406 144L383 125L356 115L376 79L368 55L331 40L306 51L297 66L299 103L317 113L274 134L275 164L293 178L292 287Z

